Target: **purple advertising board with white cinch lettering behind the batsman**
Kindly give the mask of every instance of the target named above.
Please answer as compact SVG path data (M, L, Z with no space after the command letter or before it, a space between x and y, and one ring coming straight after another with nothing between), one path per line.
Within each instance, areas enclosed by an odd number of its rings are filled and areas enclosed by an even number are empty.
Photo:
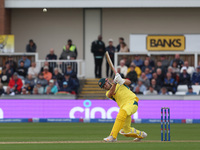
M169 107L171 119L200 119L199 100L139 100L133 119L160 119ZM119 111L112 100L0 100L0 118L114 119Z

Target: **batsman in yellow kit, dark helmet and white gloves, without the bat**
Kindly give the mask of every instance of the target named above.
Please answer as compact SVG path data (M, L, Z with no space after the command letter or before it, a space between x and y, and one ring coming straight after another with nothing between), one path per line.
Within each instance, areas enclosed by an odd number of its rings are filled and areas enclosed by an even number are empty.
M119 73L115 75L113 84L108 78L101 78L98 82L101 88L107 90L106 96L117 102L120 108L110 135L103 139L105 142L116 142L118 133L126 137L134 137L134 141L147 137L144 131L131 127L131 115L137 111L139 99L129 89L130 84L131 81L122 79Z

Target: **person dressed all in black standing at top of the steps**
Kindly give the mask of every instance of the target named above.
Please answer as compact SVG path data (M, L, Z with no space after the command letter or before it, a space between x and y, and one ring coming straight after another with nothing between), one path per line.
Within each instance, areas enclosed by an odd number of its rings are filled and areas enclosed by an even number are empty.
M98 40L92 42L91 52L94 55L94 62L95 62L95 77L101 78L101 67L103 62L103 57L106 52L105 44L102 41L102 36L98 36Z

